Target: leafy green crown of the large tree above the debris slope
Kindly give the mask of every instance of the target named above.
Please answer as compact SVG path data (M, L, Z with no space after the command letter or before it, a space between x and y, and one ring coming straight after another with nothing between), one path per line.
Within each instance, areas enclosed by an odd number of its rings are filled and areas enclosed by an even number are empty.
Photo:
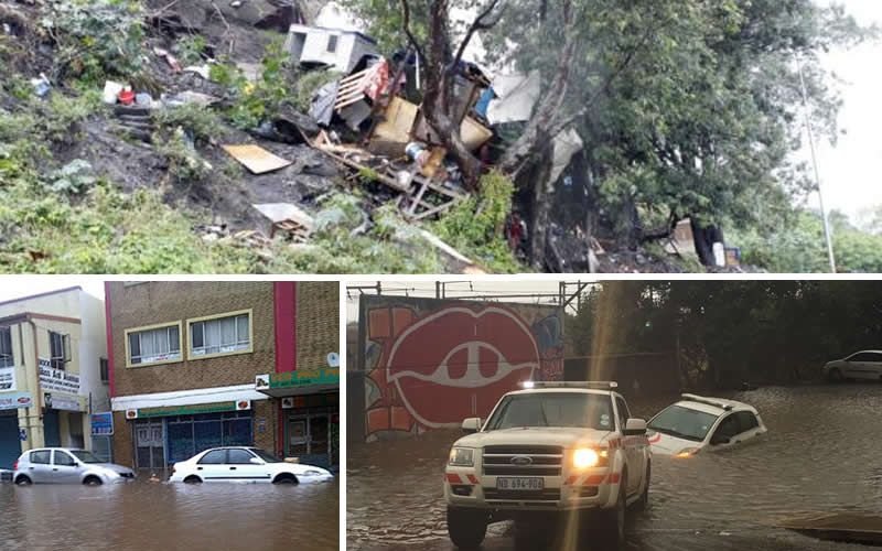
M384 44L407 44L397 2L346 3ZM431 29L430 3L408 2L419 37ZM449 13L487 4L445 3ZM700 226L756 227L762 217L789 212L813 190L790 155L804 123L798 68L814 129L835 140L840 98L818 53L874 33L841 7L811 0L501 4L498 23L481 34L485 61L538 71L544 83L502 170L517 176L530 163L549 162L544 145L573 125L585 143L594 208L637 239L645 234L639 212L663 213L671 227L685 217ZM528 180L518 182L540 184ZM536 202L550 199L550 184L537 188Z

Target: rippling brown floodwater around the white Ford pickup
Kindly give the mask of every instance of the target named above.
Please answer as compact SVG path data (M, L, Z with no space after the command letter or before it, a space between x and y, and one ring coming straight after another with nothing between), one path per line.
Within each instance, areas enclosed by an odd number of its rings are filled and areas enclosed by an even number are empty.
M655 456L650 507L632 514L623 549L872 549L817 541L778 529L775 520L816 511L882 515L882 386L776 387L728 396L755 406L768 433L690 460ZM670 401L630 404L634 415L648 418ZM459 435L435 432L349 450L349 549L454 549L441 474ZM508 522L492 525L484 549L514 549L513 534ZM578 547L592 548L584 540Z

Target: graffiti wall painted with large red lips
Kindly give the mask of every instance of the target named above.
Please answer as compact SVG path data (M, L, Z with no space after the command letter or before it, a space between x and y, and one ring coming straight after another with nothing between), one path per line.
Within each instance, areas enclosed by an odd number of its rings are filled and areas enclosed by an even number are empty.
M553 306L362 296L358 339L368 442L456 428L520 381L563 378Z

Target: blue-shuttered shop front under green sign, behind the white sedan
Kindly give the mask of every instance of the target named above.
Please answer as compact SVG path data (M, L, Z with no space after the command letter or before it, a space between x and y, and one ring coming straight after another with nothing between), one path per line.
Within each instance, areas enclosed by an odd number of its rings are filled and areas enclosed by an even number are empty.
M135 466L162 471L219 446L254 445L250 400L126 410Z

